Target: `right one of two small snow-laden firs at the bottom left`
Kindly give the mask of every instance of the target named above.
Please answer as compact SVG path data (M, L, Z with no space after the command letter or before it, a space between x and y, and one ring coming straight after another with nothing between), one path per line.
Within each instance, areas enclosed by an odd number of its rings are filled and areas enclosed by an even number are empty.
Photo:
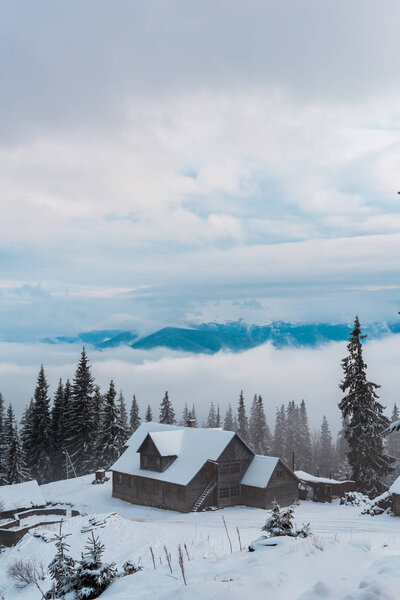
M115 564L103 563L104 545L98 537L91 537L85 546L75 570L73 589L78 600L98 598L117 576Z

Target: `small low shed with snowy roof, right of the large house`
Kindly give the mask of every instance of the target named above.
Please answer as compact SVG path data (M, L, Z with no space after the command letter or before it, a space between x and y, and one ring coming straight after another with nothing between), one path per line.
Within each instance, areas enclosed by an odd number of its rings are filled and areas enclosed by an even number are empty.
M346 492L355 491L354 481L338 481L328 477L316 477L305 471L295 471L300 479L299 497L301 500L314 502L332 502L335 498L342 498Z

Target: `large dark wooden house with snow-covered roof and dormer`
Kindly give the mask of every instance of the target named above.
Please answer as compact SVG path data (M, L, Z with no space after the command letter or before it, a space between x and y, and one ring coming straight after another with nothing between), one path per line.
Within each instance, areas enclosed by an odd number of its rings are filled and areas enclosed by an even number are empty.
M113 496L181 512L207 506L287 506L298 479L279 458L257 456L233 431L143 423L112 466Z

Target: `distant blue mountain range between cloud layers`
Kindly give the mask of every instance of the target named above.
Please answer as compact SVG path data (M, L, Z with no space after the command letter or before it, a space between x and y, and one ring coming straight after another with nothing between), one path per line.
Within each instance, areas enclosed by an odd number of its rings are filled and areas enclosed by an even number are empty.
M276 348L285 346L316 347L329 342L347 340L351 326L329 323L286 323L249 325L242 321L202 323L193 327L164 327L150 335L139 337L132 331L117 329L89 331L75 337L54 337L46 343L83 343L99 350L130 346L140 350L168 348L196 354L215 354L220 350L242 352L271 342ZM400 323L372 323L364 328L370 339L400 333Z

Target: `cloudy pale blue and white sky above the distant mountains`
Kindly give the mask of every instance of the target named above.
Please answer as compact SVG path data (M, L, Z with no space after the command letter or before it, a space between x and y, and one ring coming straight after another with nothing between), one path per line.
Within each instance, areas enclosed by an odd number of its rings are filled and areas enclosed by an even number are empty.
M396 0L0 8L3 362L107 327L396 319Z

